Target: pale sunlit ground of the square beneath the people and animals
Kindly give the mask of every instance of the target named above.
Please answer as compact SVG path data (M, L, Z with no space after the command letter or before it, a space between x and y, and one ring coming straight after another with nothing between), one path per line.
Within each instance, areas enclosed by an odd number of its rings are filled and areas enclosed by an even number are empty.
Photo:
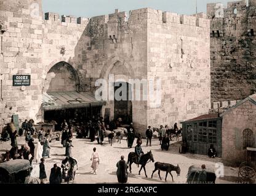
M121 155L124 155L127 160L127 156L131 151L134 151L134 148L128 149L126 138L122 140L121 144L113 143L113 146L108 144L107 138L102 146L97 144L97 141L91 143L87 139L74 139L72 148L73 157L78 160L78 171L76 173L76 179L74 183L85 183L85 184L94 184L94 183L117 183L116 177L116 163L120 159ZM18 138L19 148L21 145L25 144L25 138ZM50 143L50 158L46 159L46 170L47 170L47 179L49 180L50 168L53 167L55 163L60 166L61 161L65 157L65 148L62 148L60 141L54 141ZM134 143L135 146L135 143ZM180 176L177 176L175 171L173 171L174 183L186 183L186 174L188 172L188 167L193 164L206 164L215 166L216 162L222 162L221 159L210 159L207 156L201 156L196 154L179 154L178 147L180 143L171 143L169 151L161 151L159 146L158 139L153 139L153 145L151 147L146 147L146 140L143 140L142 149L144 153L147 151L152 151L154 160L156 162L166 162L173 165L179 165L181 169ZM96 147L98 154L100 156L100 165L98 168L97 175L92 174L90 168L91 161L90 156L92 154L92 149ZM10 141L0 144L0 151L10 149ZM1 152L0 152L1 153ZM145 178L145 173L142 170L141 175L138 175L139 168L137 165L132 165L132 173L129 173L128 183L129 184L158 184L166 183L164 179L162 181L158 177L158 172L154 173L153 179ZM146 165L146 171L148 176L151 176L152 171L154 170L154 164L152 162ZM217 179L216 183L238 183L238 168L225 167L224 171L225 177ZM165 173L161 172L161 177L165 177ZM167 184L172 183L170 175L167 177Z

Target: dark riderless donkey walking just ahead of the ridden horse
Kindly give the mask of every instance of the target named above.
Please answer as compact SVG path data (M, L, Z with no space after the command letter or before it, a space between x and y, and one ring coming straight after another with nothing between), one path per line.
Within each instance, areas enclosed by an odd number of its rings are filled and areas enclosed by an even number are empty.
M151 178L153 178L153 174L156 170L158 170L158 175L161 180L162 180L162 178L160 176L160 171L166 171L166 179L167 179L168 173L170 173L170 176L172 176L172 171L176 171L177 176L180 176L180 167L178 165L177 165L177 167L175 167L174 165L171 165L171 164L164 164L161 162L156 162L154 164L154 171L151 175ZM174 176L172 176L172 182L174 182Z

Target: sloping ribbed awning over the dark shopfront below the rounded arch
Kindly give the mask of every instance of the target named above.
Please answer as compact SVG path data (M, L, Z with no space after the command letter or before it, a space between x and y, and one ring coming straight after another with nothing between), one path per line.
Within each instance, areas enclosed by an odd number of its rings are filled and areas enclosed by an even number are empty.
M105 102L98 101L90 92L47 92L42 95L44 111L99 107L104 104Z

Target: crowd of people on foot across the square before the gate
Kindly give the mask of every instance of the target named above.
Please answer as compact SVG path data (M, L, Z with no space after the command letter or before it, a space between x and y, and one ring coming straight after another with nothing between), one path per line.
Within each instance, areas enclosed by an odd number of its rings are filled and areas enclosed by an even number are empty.
M27 159L30 162L39 163L39 179L41 179L41 183L44 184L46 182L46 169L45 169L45 159L50 157L50 130L45 131L43 128L35 132L33 128L33 121L25 120L22 123L21 129L17 132L14 130L14 126L10 124L7 129L4 129L1 134L2 141L10 140L11 149L10 151L6 151L5 156L2 156L2 162L9 161L10 159ZM103 140L106 137L106 128L108 130L115 130L118 127L121 127L121 119L117 121L110 121L108 125L105 125L103 118L95 118L89 119L87 122L72 122L68 123L64 120L61 124L62 129L62 137L61 144L63 148L65 148L65 156L72 157L71 148L73 146L73 132L76 132L77 138L88 138L90 142L94 142L97 140L98 145L103 145ZM152 138L154 131L158 130L148 126L146 129L146 146L151 146ZM178 131L177 123L174 124L175 132ZM136 146L135 146L135 164L140 164L140 158L143 156L142 150L142 135L137 134L135 132L133 123L127 128L127 148L132 148L134 144L135 138L137 138ZM25 136L25 145L22 145L20 149L18 149L17 137ZM96 138L97 136L97 138ZM38 138L38 143L36 146L34 145L34 138ZM158 130L158 138L159 145L161 146L162 151L168 151L170 147L170 134L168 133L168 127L160 126ZM181 152L186 153L187 144L185 141L182 142ZM209 157L216 156L216 150L211 145L208 152ZM100 157L97 153L97 149L94 148L92 152L92 156L90 157L92 161L91 168L92 173L97 175L98 165L100 164ZM62 165L63 166L63 165ZM119 183L127 183L128 172L127 172L127 162L124 160L124 156L121 156L121 160L116 164L117 171L116 175L118 177ZM61 172L61 168L54 164L54 167L50 170L49 181L50 184L60 184L62 183L63 173Z

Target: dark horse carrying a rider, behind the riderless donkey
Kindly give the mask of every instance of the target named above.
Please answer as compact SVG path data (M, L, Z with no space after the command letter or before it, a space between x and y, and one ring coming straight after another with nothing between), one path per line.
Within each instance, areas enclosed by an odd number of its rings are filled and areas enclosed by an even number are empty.
M150 160L152 162L154 162L154 157L151 151L149 151L146 154L143 154L142 157L140 157L140 163L138 163L139 165L142 165L142 167L140 168L140 171L142 171L142 168L145 171L145 175L146 175L146 168L145 165L150 162ZM130 168L130 173L132 173L132 164L135 163L137 164L137 156L134 152L129 153L128 155L128 161L127 164L129 164L129 168ZM140 171L138 171L138 175L140 175ZM146 175L146 178L148 178L148 176Z

